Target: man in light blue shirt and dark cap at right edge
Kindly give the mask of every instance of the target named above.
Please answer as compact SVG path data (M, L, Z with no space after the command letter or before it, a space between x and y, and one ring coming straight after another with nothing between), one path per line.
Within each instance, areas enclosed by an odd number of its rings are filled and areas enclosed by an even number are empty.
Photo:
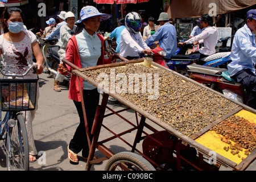
M256 9L247 12L246 24L234 35L229 75L245 86L249 95L246 105L256 109L256 44L253 31L256 30Z

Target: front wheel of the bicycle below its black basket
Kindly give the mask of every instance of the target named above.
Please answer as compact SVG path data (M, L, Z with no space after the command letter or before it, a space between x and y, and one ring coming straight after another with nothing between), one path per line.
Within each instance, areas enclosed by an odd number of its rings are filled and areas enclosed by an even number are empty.
M18 114L16 125L7 125L6 166L8 171L28 171L29 151L28 137L24 117Z

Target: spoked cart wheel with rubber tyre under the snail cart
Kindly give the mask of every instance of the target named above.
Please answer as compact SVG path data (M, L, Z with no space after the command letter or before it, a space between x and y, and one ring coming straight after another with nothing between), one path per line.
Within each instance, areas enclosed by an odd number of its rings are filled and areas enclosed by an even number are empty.
M141 155L119 152L109 159L105 171L155 171L155 168Z

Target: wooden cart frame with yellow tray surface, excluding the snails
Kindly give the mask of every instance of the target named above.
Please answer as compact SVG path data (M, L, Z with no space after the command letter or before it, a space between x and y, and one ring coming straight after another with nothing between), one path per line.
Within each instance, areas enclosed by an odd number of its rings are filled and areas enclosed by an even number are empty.
M122 67L126 64L142 64L143 59L131 60L131 61L123 61L121 63L113 63L106 65L99 65L97 67L90 68L78 68L75 65L72 65L67 60L63 60L65 64L68 64L73 68L72 73L77 76L77 78L82 78L93 84L94 86L98 86L100 84L96 80L93 80L92 77L89 77L84 74L84 71L96 70L102 68L114 68L114 67ZM148 111L142 109L138 105L135 105L133 102L127 101L125 98L121 97L117 93L109 93L108 89L101 88L103 91L101 104L98 105L96 111L96 117L94 118L92 134L93 140L92 143L89 142L90 152L88 157L88 162L86 164L86 170L90 170L90 167L93 163L96 163L100 160L107 160L114 156L114 152L111 151L108 147L104 145L104 143L109 142L113 139L120 139L124 144L127 144L131 147L131 152L139 154L143 156L143 159L146 159L155 169L157 170L166 170L170 167L170 164L175 164L176 169L181 170L182 166L191 166L194 169L198 170L216 170L220 165L225 167L232 168L233 170L245 170L250 163L255 160L256 150L254 149L248 156L245 156L245 159L233 159L230 156L230 152L224 152L223 146L225 143L220 140L220 135L216 134L215 131L210 131L212 127L217 125L218 123L224 121L224 119L229 118L232 115L241 115L242 117L246 117L246 115L250 115L248 118L250 122L256 122L256 111L251 107L241 104L240 102L234 101L223 94L220 94L212 89L207 88L207 86L201 85L198 82L191 80L190 78L184 77L179 73L172 71L171 69L167 69L162 67L159 64L152 63L152 67L162 70L166 70L171 74L174 74L180 77L180 80L185 82L191 82L192 84L200 86L200 88L205 88L210 92L214 92L218 96L225 98L225 100L229 100L232 103L236 104L236 109L229 111L229 113L223 115L222 117L212 121L209 125L205 126L203 129L197 131L196 133L187 137L182 134L180 131L171 127L170 124L163 122L161 119L155 117L154 115L148 113ZM81 92L81 85L80 85ZM108 97L114 97L118 101L122 102L122 104L127 107L122 110L114 111L110 109L108 106ZM160 96L161 97L161 96ZM82 105L83 105L82 101ZM169 103L170 104L170 103ZM105 114L106 109L111 111L111 114ZM134 110L136 123L128 121L126 118L122 117L122 111L126 111L128 109ZM84 110L85 113L85 110ZM125 131L120 133L115 133L111 128L104 125L104 118L110 117L111 115L117 115L123 121L127 122L130 127L127 127ZM141 119L139 119L141 117ZM188 121L189 122L189 121ZM85 118L86 124L86 118ZM155 127L154 125L157 125ZM85 125L87 126L87 125ZM106 138L104 140L99 140L101 128L104 127L110 133L113 134L112 137ZM160 130L159 130L160 129ZM86 129L87 135L88 129ZM131 133L132 131L136 132L135 139L133 143L127 142L125 138L122 138L127 133ZM143 141L142 148L143 151L138 150L138 143ZM152 144L154 143L154 144ZM106 157L101 159L93 159L94 152L96 148L102 152ZM190 159L187 155L184 155L184 151L194 152L193 148L196 148L197 157L196 159ZM186 152L185 152L186 153ZM175 154L175 155L174 155ZM163 160L166 160L163 162ZM213 164L213 165L212 165ZM122 164L124 167L125 164ZM126 169L127 168L126 166ZM152 168L146 168L152 169ZM143 170L143 168L142 168Z

